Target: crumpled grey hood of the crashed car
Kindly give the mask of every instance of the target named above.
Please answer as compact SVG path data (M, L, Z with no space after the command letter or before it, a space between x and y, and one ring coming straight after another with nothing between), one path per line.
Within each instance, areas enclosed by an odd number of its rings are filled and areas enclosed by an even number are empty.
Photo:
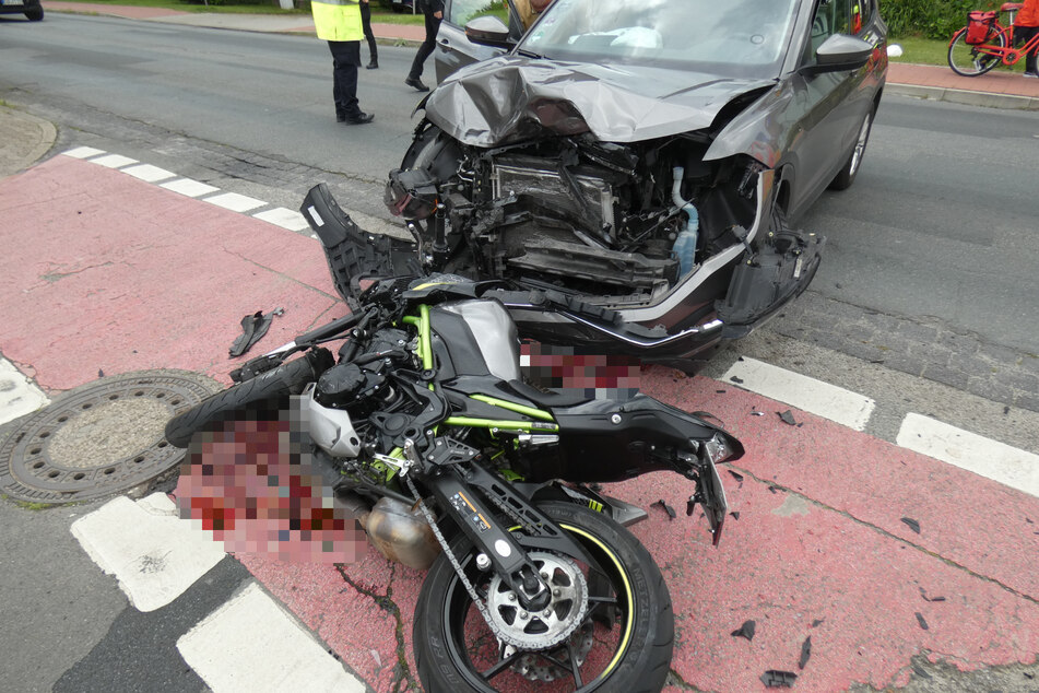
M569 103L601 141L637 142L706 128L734 97L774 83L501 56L451 75L429 94L425 109L434 125L473 146L531 137L542 127L534 106L545 101Z

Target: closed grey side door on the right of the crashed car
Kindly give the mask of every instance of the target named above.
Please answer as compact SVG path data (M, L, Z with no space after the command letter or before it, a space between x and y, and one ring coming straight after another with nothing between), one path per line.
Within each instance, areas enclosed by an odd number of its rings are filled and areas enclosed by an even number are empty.
M864 31L863 4L862 0L815 0L801 69L791 75L792 107L798 110L790 148L796 167L788 205L791 218L803 213L837 175L872 108L870 66L819 74L810 71L815 51L827 38Z

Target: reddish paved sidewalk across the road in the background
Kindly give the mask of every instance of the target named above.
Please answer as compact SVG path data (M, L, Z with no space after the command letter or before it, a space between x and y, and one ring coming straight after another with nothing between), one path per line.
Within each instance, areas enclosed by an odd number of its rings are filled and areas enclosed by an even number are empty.
M285 34L314 33L314 22L306 15L210 14L60 0L45 0L44 7L52 12L107 14L188 26ZM371 25L371 31L376 38L389 43L417 43L424 35L422 26L402 24L376 23ZM887 92L970 106L1039 110L1039 80L1026 80L1019 73L1001 70L980 78L966 78L959 77L947 67L892 62L887 75Z

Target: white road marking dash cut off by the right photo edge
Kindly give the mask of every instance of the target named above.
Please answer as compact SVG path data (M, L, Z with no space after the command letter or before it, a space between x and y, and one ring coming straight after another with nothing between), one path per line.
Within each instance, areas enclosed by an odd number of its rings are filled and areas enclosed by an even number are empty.
M895 442L910 450L1039 496L1039 455L910 412Z

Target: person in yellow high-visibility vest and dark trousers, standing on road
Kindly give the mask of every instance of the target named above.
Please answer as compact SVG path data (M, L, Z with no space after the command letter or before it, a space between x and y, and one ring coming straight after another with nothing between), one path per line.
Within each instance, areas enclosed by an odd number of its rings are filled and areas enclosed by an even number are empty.
M371 122L371 114L357 104L357 68L364 27L357 0L310 0L314 28L332 51L332 99L335 120L346 125Z

